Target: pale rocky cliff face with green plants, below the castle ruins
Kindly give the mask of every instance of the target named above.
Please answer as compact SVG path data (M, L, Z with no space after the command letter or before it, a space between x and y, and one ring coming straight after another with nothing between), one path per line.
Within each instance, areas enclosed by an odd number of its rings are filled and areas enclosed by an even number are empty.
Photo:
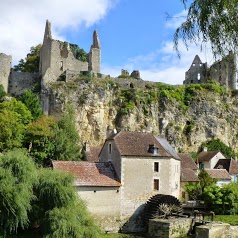
M238 149L238 96L218 85L148 82L126 88L112 80L78 79L53 84L50 102L55 116L67 102L74 105L82 143L103 144L117 129L165 136L180 151L196 151L212 138Z

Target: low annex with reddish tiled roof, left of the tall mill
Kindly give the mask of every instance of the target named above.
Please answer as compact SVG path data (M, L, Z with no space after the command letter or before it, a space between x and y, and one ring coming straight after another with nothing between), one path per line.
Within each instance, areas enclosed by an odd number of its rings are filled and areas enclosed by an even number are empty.
M75 189L105 231L118 231L121 183L110 162L52 161L53 169L74 175Z

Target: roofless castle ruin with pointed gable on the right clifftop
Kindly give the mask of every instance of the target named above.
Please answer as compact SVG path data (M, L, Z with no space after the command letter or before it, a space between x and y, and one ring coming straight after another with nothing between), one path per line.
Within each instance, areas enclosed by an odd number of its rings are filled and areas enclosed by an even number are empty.
M236 89L237 68L236 55L232 52L215 62L211 67L202 63L198 55L195 56L189 70L185 72L183 84L199 84L214 80L227 89Z

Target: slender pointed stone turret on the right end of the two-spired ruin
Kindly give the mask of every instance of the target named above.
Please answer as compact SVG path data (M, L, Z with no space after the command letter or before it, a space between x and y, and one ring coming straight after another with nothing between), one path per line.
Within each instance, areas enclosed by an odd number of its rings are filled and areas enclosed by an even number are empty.
M101 46L97 31L93 32L93 44L91 45L88 57L88 70L91 70L95 73L100 73Z

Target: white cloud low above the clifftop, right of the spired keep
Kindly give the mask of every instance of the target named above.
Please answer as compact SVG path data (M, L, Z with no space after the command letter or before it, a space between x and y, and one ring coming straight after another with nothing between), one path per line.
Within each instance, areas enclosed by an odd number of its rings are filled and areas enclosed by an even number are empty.
M102 72L116 77L120 75L121 69L126 69L129 72L139 70L141 78L146 81L173 85L183 84L185 72L191 66L196 55L199 55L202 62L207 62L208 64L213 62L213 57L208 46L201 51L200 47L196 45L189 45L189 50L182 43L180 45L180 58L173 49L173 42L168 41L160 49L156 49L147 55L129 58L121 66L110 67L109 65L103 65Z

